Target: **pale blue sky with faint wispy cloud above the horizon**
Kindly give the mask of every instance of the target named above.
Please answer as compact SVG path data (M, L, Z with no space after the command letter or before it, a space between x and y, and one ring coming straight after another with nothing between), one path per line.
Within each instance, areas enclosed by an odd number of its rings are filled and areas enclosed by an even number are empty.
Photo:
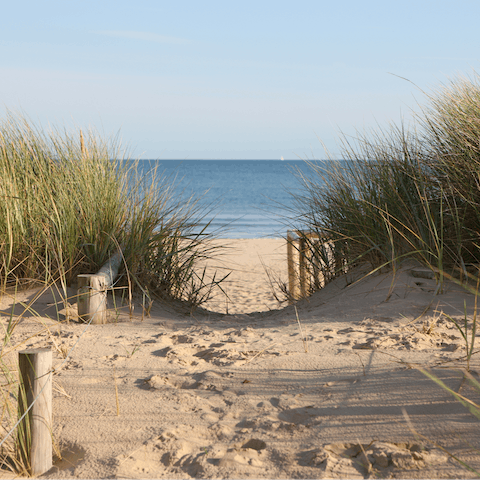
M479 0L3 2L0 109L135 156L324 158L480 71Z

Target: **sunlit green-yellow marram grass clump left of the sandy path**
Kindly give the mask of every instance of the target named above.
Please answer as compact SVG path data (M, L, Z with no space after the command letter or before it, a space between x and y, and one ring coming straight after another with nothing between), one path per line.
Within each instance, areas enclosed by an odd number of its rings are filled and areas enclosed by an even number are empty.
M172 179L143 177L115 139L94 132L49 133L9 113L0 123L0 280L17 282L94 273L123 249L129 283L144 295L191 302L219 279L198 274L213 253L199 223L210 213L175 200ZM126 280L123 281L127 283Z

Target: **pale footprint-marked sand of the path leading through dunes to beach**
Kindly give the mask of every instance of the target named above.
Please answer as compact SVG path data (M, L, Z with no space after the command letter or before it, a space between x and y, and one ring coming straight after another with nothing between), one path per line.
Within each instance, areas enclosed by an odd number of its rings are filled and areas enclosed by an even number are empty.
M472 295L454 284L434 295L435 281L410 265L393 290L391 273L356 271L297 311L275 309L259 255L286 281L285 245L229 244L230 300L213 299L213 311L157 302L143 321L122 313L86 328L48 319L53 299L44 295L34 308L48 330L30 340L39 319L25 315L15 342L55 351L62 459L44 478L472 478L439 447L480 468L478 420L418 369L480 401L444 315L461 320L464 302L471 315ZM2 311L10 303L3 298Z

